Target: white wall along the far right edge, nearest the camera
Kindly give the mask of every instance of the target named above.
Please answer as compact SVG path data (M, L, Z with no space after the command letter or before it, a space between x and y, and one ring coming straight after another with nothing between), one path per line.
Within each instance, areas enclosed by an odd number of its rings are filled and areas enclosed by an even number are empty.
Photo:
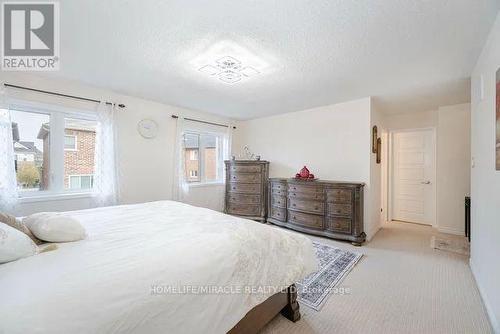
M472 74L471 268L493 327L500 333L500 171L495 170L495 73L500 16ZM481 96L481 77L484 96Z

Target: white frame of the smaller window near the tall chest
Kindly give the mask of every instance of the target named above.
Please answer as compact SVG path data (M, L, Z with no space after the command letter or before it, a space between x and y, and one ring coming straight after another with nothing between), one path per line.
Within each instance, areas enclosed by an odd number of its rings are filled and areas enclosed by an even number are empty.
M194 181L194 182L189 182L186 180L187 184L189 187L200 187L200 186L206 186L206 185L222 185L225 182L224 179L224 137L226 136L222 132L213 132L213 131L203 131L203 130L198 130L198 129L186 129L182 134L182 140L184 140L184 136L186 134L190 135L198 135L199 140L198 140L198 174L200 181ZM205 173L205 146L203 146L201 136L202 135L211 135L216 137L216 179L215 180L210 180L207 181L206 179L206 173ZM185 155L185 153L183 152ZM186 163L184 162L182 166L182 175L186 177ZM187 179L187 177L186 177Z

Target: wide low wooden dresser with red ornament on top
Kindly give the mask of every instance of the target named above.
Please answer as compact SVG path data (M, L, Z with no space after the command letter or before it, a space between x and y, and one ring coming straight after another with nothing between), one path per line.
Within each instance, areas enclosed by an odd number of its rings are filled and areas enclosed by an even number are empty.
M270 179L269 223L360 246L363 183Z

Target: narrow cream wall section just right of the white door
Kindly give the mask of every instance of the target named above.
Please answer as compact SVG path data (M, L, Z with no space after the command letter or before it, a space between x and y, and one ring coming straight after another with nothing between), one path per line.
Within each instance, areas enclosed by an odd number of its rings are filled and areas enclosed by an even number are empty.
M440 107L437 127L437 227L464 235L470 195L470 104Z

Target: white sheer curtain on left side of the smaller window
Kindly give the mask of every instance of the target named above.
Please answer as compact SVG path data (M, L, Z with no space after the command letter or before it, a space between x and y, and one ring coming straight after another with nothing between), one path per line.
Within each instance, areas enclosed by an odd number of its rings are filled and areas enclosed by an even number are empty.
M185 141L186 120L183 117L177 118L175 134L175 152L174 152L174 182L172 189L172 198L174 201L184 201L189 194L189 184L184 173L185 164Z

